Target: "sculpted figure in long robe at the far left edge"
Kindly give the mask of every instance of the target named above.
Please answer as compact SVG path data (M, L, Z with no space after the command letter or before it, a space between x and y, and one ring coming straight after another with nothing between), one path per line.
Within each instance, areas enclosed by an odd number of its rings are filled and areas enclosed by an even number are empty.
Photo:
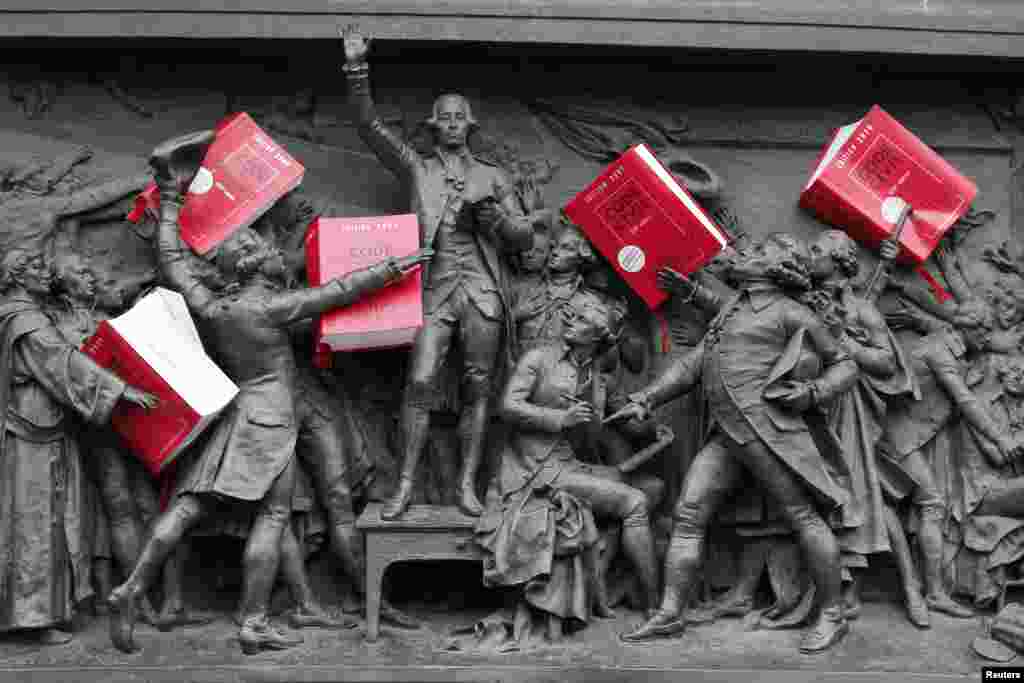
M68 412L103 424L119 400L157 399L65 341L40 302L53 273L38 252L0 262L0 631L67 642L73 601L89 593L82 548L82 468Z

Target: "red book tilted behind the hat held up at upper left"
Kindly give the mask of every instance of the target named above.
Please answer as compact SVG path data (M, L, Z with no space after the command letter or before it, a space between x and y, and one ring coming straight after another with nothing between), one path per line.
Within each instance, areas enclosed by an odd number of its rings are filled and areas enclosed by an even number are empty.
M233 114L216 127L178 219L181 239L205 254L236 230L252 225L279 199L302 182L305 169L274 142L248 114ZM160 193L151 184L135 200L128 219L159 210Z

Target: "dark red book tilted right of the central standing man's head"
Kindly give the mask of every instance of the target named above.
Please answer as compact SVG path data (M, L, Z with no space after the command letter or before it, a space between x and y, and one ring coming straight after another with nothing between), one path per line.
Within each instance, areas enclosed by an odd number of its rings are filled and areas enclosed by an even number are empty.
M646 144L620 157L563 211L652 309L668 298L657 286L660 268L689 274L728 243Z

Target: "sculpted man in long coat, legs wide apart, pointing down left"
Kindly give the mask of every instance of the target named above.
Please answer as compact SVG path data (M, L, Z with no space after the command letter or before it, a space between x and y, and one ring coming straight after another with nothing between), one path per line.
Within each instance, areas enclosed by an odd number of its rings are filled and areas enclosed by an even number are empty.
M819 453L800 413L827 403L850 388L857 366L806 307L786 296L783 284L809 285L807 256L787 234L773 234L745 251L732 265L739 294L712 322L692 353L631 397L617 415L644 418L698 381L714 424L711 439L690 465L674 512L665 564L662 606L645 624L624 634L637 642L679 633L682 609L697 579L708 524L748 470L775 499L807 556L821 610L804 634L801 650L815 652L848 631L840 596L840 551L816 503L841 509L846 495ZM785 377L806 334L825 367L813 381L777 382ZM839 463L842 467L842 462Z

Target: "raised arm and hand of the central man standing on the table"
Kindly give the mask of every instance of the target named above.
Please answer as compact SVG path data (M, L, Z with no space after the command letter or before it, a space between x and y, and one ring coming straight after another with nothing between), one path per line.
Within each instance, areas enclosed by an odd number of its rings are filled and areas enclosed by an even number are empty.
M392 133L381 121L370 92L370 38L358 32L354 26L341 32L345 46L345 79L348 81L348 101L355 112L359 137L374 151L377 158L399 178L407 178L411 169L420 161L416 151Z

